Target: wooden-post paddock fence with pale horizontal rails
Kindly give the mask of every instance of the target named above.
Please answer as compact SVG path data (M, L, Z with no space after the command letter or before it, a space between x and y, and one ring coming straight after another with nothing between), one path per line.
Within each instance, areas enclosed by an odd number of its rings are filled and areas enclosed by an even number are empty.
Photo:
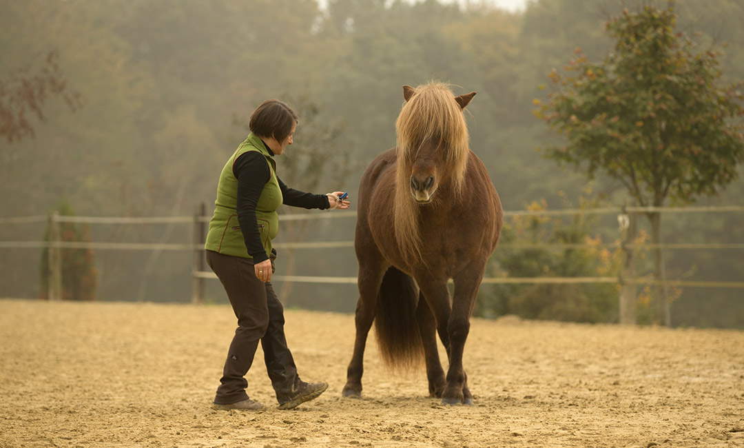
M629 303L635 304L635 287L638 285L672 286L672 287L699 287L699 288L744 288L744 281L684 281L664 280L656 281L649 278L638 278L632 268L633 254L641 249L715 249L715 250L742 250L744 243L642 243L635 244L632 237L635 231L629 231L635 225L635 220L641 214L658 212L662 215L681 213L741 213L744 206L702 206L702 207L607 207L594 209L564 209L553 211L504 211L504 217L517 216L568 216L577 214L615 214L619 224L619 243L604 243L611 249L620 249L623 252L623 269L616 277L486 277L483 284L618 284L620 285L620 307L628 307ZM356 218L356 211L333 211L332 213L310 212L303 214L283 214L280 221L292 220L347 220ZM37 215L31 217L6 217L0 218L0 225L24 225L29 223L48 222L50 228L50 239L48 241L11 241L0 240L0 249L28 248L48 249L49 277L48 277L48 299L59 300L62 291L62 249L93 249L114 251L179 251L193 252L193 264L191 270L192 278L192 302L202 303L204 298L205 284L210 279L216 279L213 272L205 269L204 241L207 223L210 216L206 213L206 206L200 204L193 216L177 217L78 217L62 216L54 213L49 216ZM193 238L184 243L116 243L116 242L71 242L62 240L60 234L61 223L80 223L88 225L147 225L147 224L178 224L190 225ZM353 225L353 224L350 224ZM286 243L275 243L277 249L351 249L353 241L293 241ZM511 249L583 249L591 246L585 243L577 244L525 244L525 243L499 243L499 248ZM334 277L334 276L310 276L310 275L275 275L276 281L297 283L321 283L321 284L356 284L356 277ZM628 289L627 287L633 287ZM622 322L622 310L620 312Z

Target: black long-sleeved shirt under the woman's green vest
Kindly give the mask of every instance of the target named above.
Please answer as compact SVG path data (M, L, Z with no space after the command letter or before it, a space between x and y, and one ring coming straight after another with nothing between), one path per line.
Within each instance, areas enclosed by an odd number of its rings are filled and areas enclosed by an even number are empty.
M266 149L269 150L269 154L274 154L268 145ZM260 263L268 260L269 255L263 249L258 233L256 205L263 186L269 182L272 173L269 170L269 164L266 163L266 156L257 151L248 151L241 154L233 164L233 174L237 179L237 220L243 232L243 240L246 241L246 249L248 249L248 255L253 257L253 262ZM283 204L303 208L330 208L328 196L289 188L279 179L279 176L277 180L283 196Z

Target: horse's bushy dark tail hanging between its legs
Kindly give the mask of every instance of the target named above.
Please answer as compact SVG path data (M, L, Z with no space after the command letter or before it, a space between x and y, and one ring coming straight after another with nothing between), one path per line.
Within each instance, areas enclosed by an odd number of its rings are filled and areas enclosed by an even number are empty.
M388 268L377 295L374 324L382 360L391 367L414 368L423 359L417 305L418 288L413 278Z

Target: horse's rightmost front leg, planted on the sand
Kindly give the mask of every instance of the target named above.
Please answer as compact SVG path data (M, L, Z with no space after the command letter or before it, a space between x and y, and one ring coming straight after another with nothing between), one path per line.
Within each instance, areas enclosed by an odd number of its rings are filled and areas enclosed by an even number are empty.
M472 266L471 266L472 267ZM455 278L455 296L452 299L452 313L447 323L449 336L449 370L447 386L442 394L442 404L466 404L472 406L472 394L467 387L467 375L463 368L465 341L470 331L470 314L481 285L483 270L475 269L477 275L469 273Z

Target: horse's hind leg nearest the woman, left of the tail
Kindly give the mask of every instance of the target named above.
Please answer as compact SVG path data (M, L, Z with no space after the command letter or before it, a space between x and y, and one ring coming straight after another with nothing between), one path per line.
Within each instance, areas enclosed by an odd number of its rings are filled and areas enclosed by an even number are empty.
M364 263L359 266L359 301L356 302L356 336L354 338L354 353L346 371L346 385L344 397L362 397L362 374L364 373L365 345L367 336L377 311L377 294L385 269Z

